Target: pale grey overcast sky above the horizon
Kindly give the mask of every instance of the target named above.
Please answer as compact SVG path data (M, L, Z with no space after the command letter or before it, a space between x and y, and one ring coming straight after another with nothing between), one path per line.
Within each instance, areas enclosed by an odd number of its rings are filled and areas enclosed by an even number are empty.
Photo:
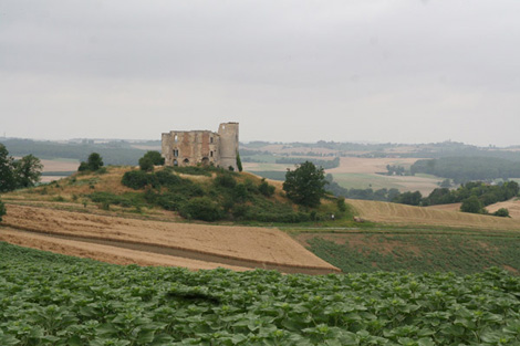
M0 0L0 137L520 145L518 0Z

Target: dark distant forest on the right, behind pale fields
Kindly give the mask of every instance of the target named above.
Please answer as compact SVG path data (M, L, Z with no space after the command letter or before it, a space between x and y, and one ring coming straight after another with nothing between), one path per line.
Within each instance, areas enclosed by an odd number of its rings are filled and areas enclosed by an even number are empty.
M455 184L475 180L520 178L520 161L497 157L443 157L418 160L410 167L412 174L428 174L449 178Z

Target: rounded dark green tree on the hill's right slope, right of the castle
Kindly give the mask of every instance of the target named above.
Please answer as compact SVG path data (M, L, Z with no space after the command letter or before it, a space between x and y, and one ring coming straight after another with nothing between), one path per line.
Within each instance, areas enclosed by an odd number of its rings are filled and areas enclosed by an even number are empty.
M288 169L283 190L287 197L297 205L316 207L325 195L325 175L323 168L305 161L297 165L297 169Z

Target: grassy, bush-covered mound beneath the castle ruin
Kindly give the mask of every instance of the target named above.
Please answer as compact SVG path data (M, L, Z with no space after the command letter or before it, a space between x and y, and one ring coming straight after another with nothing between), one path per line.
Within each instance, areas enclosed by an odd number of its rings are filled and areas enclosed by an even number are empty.
M318 208L301 208L285 198L279 182L211 167L160 167L154 172L107 167L2 198L83 211L94 207L143 217L168 214L177 220L294 223L325 221L331 213L339 220L352 219L347 210L339 210L334 197Z

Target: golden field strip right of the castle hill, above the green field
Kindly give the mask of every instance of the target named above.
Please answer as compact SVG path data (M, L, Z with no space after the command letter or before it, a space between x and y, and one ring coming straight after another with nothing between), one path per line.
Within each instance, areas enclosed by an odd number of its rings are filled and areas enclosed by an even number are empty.
M519 220L492 216L471 214L434 208L347 199L365 220L398 226L436 226L472 228L475 230L520 230Z

